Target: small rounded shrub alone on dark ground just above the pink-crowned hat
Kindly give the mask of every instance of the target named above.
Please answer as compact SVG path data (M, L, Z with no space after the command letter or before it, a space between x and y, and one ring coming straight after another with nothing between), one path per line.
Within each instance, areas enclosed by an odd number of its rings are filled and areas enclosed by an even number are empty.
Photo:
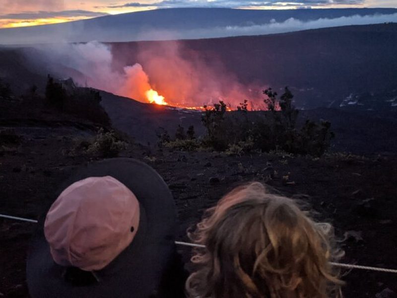
M101 128L95 137L95 141L88 147L87 151L99 154L102 157L116 157L126 147L126 142L118 140L115 132L104 132L104 129Z

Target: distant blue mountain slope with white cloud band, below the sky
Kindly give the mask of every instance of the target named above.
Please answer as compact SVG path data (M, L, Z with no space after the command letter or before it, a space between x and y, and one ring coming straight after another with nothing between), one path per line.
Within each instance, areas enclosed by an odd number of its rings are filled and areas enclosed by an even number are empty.
M394 8L169 8L62 24L0 29L0 44L212 38L396 20L397 9Z

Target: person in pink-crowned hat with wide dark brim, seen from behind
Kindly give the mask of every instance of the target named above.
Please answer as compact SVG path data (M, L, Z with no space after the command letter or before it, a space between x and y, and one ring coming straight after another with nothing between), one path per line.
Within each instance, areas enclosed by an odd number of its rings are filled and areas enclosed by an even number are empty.
M164 180L129 158L73 175L33 236L32 298L183 297L176 211Z

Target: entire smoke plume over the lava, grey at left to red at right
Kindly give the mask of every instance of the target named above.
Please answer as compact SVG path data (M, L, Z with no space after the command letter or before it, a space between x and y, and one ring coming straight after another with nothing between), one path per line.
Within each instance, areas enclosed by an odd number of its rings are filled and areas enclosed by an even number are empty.
M197 107L224 100L236 108L244 99L259 98L258 92L251 92L215 60L208 64L192 50L189 59L182 57L178 42L160 47L143 45L136 56L139 63L122 69L116 69L118 57L114 57L111 47L99 42L63 44L45 47L44 51L52 57L54 70L71 75L80 85L142 102L167 101L171 105Z

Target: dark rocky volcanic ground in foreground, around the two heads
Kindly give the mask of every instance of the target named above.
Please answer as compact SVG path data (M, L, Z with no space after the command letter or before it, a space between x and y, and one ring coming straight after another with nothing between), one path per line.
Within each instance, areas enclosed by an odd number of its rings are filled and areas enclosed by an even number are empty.
M1 108L0 128L14 129L22 140L0 144L0 213L37 219L74 169L98 159L70 151L76 141L92 137L97 128L48 110L35 114L32 107L15 108L4 113ZM310 203L319 220L334 224L337 236L344 238L340 244L346 251L343 262L397 268L396 155L227 156L129 145L121 156L141 159L164 177L178 210L178 239L187 240L186 228L227 191L258 180L271 191ZM0 297L28 297L25 258L34 228L35 224L0 219ZM190 250L181 247L180 251L188 260ZM347 298L375 297L387 288L397 293L393 274L354 270L343 279Z

